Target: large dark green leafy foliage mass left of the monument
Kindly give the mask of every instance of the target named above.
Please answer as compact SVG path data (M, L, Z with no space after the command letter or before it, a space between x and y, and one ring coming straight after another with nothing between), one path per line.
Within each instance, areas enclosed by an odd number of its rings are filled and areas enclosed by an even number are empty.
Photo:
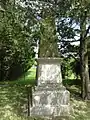
M7 2L5 11L0 11L0 80L12 79L18 69L21 75L34 62L31 30L25 26L25 13L25 9L13 5L13 1Z

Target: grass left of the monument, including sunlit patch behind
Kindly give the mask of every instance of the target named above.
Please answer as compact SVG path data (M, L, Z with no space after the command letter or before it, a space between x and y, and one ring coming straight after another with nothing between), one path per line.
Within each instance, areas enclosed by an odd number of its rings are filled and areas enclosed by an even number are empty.
M0 119L26 120L27 117L24 117L28 114L30 92L27 91L27 86L33 87L35 83L35 69L29 70L18 80L0 82Z

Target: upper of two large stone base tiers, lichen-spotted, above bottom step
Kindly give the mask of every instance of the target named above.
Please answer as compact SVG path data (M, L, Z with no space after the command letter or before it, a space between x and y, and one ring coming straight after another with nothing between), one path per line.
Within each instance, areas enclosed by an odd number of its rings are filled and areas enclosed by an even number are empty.
M53 91L36 91L33 93L34 105L67 105L69 103L70 93L65 90L53 90Z

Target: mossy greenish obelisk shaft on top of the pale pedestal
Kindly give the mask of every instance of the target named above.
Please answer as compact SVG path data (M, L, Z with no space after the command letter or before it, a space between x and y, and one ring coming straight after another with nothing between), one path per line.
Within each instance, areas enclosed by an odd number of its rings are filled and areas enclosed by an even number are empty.
M55 19L46 17L41 21L39 57L58 57Z

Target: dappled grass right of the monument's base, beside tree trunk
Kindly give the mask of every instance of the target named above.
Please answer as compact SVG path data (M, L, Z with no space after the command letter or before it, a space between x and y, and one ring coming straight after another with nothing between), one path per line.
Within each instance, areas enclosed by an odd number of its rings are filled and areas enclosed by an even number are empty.
M81 98L81 81L67 79L63 81L67 90L70 92L70 103L72 113L70 120L90 120L90 101L84 101Z

